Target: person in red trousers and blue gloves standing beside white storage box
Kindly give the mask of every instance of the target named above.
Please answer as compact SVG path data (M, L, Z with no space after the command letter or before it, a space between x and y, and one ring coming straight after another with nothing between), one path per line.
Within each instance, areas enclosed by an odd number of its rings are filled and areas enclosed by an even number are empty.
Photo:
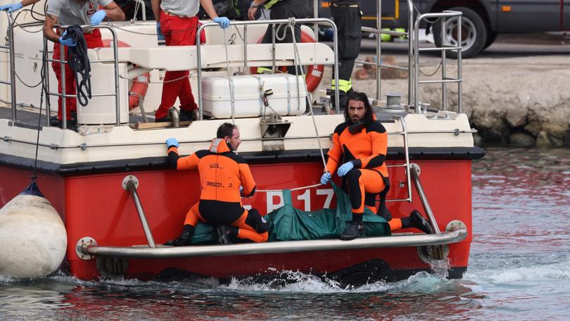
M158 39L163 38L167 46L194 46L198 29L200 5L220 27L229 27L229 19L218 17L212 0L151 0L156 17ZM176 99L180 100L180 120L190 120L192 112L198 109L190 87L189 70L167 71L163 83L163 96L155 112L155 122L172 121L168 109Z

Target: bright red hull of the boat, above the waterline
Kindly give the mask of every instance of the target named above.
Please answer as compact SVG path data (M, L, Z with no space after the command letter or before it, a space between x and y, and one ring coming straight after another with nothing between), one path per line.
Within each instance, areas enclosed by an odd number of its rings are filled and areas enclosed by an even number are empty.
M471 160L417 160L422 173L420 180L441 230L451 220L467 225L468 237L449 245L450 271L460 277L467 268L471 244ZM393 162L388 161L388 165ZM400 162L398 162L400 163ZM272 163L251 165L258 189L290 189L316 184L322 172L322 163ZM444 174L445 173L445 174ZM75 253L75 245L82 237L91 237L103 246L132 246L147 244L134 202L122 189L126 175L139 180L138 193L148 224L157 244L177 237L187 210L198 201L200 188L196 170L151 170L61 177L55 174L39 175L38 184L44 195L61 214L68 232L70 272L80 279L100 276L96 260L82 260ZM388 199L403 199L407 187L402 168L391 168L392 187ZM445 175L445 177L444 177ZM0 165L0 203L4 206L25 188L30 172ZM325 203L334 204L329 197L330 187L293 191L293 205L315 210ZM414 188L413 203L390 202L388 208L395 217L407 216L411 210L423 213ZM274 193L275 194L275 193ZM278 195L258 192L244 199L265 214L279 204ZM402 232L413 232L403 230ZM417 231L416 231L417 232ZM429 270L416 247L376 248L351 251L310 251L246 256L218 256L160 260L129 260L123 265L126 277L151 279L169 267L196 275L234 277L275 275L282 270L333 275L350 267L379 263L376 273L388 279L407 277L419 270ZM124 263L124 261L122 262ZM381 263L381 264L380 264ZM115 264L115 263L113 263ZM113 265L111 264L111 265ZM360 267L355 267L355 271ZM365 267L362 267L365 268Z

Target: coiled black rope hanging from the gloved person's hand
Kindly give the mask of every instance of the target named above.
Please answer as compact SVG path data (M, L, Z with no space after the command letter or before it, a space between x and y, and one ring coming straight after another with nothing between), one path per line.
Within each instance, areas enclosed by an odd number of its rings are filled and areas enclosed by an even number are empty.
M91 65L87 56L87 42L83 37L83 30L79 25L68 27L68 33L63 39L72 38L76 45L68 49L68 63L75 73L75 87L77 88L77 101L81 106L87 106L91 99ZM81 80L80 77L81 75Z

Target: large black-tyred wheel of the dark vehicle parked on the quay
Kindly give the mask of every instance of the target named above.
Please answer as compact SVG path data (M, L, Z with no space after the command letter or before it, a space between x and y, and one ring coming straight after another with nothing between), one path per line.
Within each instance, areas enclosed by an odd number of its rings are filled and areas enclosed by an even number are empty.
M461 11L461 56L462 58L471 58L485 49L487 44L487 27L483 18L465 7L450 8L450 11ZM458 18L450 18L445 23L445 44L457 46ZM441 46L441 23L438 21L433 24L433 40L436 46ZM455 51L448 51L447 56L457 58Z

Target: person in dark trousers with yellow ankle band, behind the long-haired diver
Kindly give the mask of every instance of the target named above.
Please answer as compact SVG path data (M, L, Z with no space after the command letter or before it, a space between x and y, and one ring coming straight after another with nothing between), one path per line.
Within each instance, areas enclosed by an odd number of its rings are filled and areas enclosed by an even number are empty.
M334 91L338 85L338 103L341 108L345 108L348 94L353 90L350 81L354 62L360 53L362 39L360 0L331 0L329 8L338 30L338 84L334 79L333 70L331 89ZM334 100L334 94L332 94L331 105L333 106Z

